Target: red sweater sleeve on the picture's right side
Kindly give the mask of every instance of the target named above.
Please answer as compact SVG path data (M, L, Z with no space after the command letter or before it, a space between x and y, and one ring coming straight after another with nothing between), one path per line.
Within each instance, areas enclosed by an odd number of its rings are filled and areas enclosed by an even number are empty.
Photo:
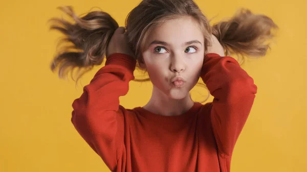
M218 152L231 156L257 91L253 79L231 57L208 54L201 77L214 99L211 125Z

